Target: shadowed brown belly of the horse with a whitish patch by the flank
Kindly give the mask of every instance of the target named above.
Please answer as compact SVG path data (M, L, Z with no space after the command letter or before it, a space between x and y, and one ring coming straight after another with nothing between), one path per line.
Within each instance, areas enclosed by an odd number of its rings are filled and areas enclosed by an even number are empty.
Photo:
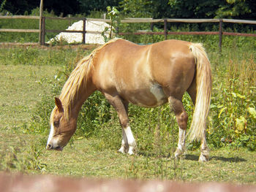
M153 84L149 86L141 86L134 91L125 91L126 98L130 103L140 107L157 107L167 102L162 86Z

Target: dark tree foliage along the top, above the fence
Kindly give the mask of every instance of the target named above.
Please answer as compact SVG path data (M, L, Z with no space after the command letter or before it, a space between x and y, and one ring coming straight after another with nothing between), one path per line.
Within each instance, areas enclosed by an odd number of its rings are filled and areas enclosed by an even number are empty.
M0 0L1 3L4 0ZM4 9L13 15L39 7L40 0L6 0ZM56 15L84 14L118 7L122 15L152 18L239 18L256 19L255 0L45 0L44 9Z

